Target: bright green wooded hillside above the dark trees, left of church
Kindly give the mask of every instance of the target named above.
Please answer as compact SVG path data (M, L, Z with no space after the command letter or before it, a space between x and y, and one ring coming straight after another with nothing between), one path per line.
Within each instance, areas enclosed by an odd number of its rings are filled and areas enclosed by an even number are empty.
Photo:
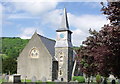
M2 44L0 53L2 57L17 58L28 41L29 39L21 39L19 37L2 37L0 39L0 44Z

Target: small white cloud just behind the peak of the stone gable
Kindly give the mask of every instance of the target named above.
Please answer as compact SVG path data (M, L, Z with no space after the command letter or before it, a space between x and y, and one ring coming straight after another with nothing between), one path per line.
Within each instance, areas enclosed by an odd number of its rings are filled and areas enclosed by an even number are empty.
M36 30L38 29L35 27L21 28L22 33L19 34L18 36L22 39L30 39ZM38 30L37 33L40 35L44 35L43 32L40 30Z

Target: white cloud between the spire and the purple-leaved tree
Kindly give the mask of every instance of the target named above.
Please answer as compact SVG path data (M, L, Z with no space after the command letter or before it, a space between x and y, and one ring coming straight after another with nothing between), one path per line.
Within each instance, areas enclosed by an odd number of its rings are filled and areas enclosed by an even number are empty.
M99 15L75 16L69 13L68 16L70 25L76 28L73 30L72 39L75 46L81 45L82 41L89 36L88 30L90 28L99 31L104 24L108 23L105 17Z

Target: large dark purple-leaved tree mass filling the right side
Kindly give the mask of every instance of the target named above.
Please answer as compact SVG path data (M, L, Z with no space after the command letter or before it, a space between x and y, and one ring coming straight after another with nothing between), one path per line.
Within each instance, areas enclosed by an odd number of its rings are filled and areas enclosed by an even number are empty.
M78 51L77 58L81 70L89 76L99 72L105 77L113 74L120 78L120 1L108 2L107 7L101 4L110 24L104 25L99 32L89 30L91 36L83 42L84 46Z

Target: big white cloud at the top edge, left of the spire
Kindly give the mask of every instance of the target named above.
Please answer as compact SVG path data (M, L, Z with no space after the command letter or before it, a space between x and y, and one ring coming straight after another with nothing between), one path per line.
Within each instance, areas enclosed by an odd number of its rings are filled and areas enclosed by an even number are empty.
M13 4L16 11L25 11L32 15L40 15L41 13L54 9L57 2L16 2Z

